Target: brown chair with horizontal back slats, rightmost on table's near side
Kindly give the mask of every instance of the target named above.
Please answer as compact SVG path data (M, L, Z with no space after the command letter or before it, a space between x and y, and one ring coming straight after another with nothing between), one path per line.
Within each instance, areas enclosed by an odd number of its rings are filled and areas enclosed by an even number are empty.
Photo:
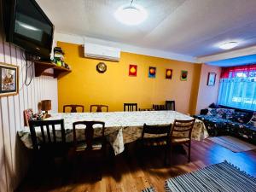
M193 127L195 124L195 119L191 120L174 120L171 130L171 154L172 154L172 147L174 145L181 145L184 144L189 148L188 154L188 162L190 162L190 152L191 152L191 135L193 131ZM183 136L177 137L173 134L181 134Z

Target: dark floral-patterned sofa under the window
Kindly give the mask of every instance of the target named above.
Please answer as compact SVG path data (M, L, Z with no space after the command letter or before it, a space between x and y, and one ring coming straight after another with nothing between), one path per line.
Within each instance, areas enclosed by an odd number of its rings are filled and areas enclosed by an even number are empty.
M199 115L194 115L204 122L210 136L229 135L256 143L256 127L251 121L254 116L253 111L215 105L201 109Z

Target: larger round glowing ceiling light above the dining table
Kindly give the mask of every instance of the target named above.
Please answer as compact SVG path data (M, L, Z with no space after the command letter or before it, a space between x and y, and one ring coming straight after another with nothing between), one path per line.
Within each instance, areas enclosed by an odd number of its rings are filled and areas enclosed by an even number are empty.
M148 13L142 6L137 4L121 6L114 13L119 22L128 26L137 26L147 19Z

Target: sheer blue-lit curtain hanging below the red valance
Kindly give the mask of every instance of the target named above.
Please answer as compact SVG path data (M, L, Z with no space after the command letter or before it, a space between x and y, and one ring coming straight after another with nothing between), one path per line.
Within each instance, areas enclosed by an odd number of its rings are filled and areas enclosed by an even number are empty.
M256 77L220 79L218 104L256 111Z

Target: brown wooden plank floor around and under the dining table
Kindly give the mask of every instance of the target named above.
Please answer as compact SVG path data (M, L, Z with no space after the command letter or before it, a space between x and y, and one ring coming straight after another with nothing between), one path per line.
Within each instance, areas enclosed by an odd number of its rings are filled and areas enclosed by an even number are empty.
M184 154L174 152L172 166L164 166L161 151L152 151L143 159L139 159L133 151L135 148L131 145L128 156L127 153L121 154L115 157L112 165L106 164L101 181L91 179L94 172L89 168L79 168L73 170L73 176L65 179L62 179L58 173L51 173L50 177L37 179L36 183L32 177L28 177L18 191L136 192L152 185L160 192L164 191L166 178L193 172L224 160L228 160L256 177L256 150L233 153L210 140L192 144L190 163L187 163Z

